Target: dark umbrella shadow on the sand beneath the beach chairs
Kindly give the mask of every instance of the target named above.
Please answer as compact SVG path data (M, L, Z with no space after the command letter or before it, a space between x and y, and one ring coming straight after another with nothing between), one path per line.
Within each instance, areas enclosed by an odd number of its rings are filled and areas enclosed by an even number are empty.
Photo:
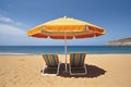
M69 65L68 65L68 69L69 69ZM86 69L87 69L86 75L70 75L70 73L64 73L64 64L62 63L60 66L59 76L61 76L61 77L88 77L88 78L93 78L93 77L98 77L100 75L104 75L106 73L105 70L103 70L96 65L87 65L86 64ZM83 71L83 70L79 70L79 71ZM45 73L48 73L48 74L56 73L56 70L46 70Z

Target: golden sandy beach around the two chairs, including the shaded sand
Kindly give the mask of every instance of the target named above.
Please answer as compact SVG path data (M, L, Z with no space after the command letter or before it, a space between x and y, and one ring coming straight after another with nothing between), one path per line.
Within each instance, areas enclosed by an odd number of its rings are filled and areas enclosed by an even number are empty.
M87 54L85 63L85 76L63 74L63 64L59 76L43 76L41 55L0 55L0 87L131 87L131 54Z

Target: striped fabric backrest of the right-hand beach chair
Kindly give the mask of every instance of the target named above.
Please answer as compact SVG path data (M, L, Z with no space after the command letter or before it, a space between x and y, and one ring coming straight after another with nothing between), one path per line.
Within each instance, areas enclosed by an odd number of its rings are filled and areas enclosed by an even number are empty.
M70 64L71 66L82 66L84 65L85 53L71 53Z

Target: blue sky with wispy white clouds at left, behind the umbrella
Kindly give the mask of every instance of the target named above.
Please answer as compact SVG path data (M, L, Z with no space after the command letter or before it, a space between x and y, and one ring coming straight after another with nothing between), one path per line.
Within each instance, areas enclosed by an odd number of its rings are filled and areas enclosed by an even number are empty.
M105 28L100 37L68 40L69 46L104 46L131 37L131 0L0 0L0 46L63 46L26 32L64 15Z

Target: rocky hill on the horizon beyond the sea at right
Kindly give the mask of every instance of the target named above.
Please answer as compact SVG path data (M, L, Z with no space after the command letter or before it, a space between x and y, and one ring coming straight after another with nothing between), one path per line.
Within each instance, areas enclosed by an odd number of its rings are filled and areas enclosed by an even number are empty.
M106 44L107 46L131 46L131 37L130 38L123 38L118 40L112 40Z

